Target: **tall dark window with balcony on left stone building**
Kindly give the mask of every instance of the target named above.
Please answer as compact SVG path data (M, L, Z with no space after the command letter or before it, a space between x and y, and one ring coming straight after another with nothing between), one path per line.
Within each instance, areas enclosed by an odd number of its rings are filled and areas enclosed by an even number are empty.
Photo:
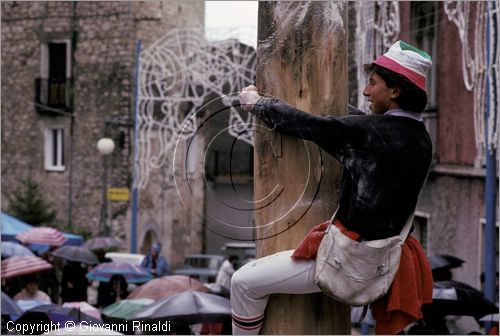
M41 48L41 76L36 80L36 102L52 108L70 109L71 41L42 43Z

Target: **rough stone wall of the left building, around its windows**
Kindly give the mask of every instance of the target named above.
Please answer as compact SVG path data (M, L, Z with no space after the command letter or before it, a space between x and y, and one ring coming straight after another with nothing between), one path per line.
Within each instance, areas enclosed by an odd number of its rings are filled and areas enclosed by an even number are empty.
M8 207L6 195L30 176L63 225L71 219L74 227L99 230L102 160L95 144L106 120L130 120L134 30L127 7L113 2L2 3L2 208ZM41 42L58 38L73 40L73 118L41 115L34 108ZM46 125L64 126L64 172L44 170ZM111 158L113 183L127 179L130 149L124 140Z

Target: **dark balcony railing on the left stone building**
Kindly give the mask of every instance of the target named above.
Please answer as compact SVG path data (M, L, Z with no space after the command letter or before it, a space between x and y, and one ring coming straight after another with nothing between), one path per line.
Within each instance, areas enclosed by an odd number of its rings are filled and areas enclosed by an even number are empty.
M69 79L37 78L35 80L36 109L41 113L54 113L58 109L72 112L72 90Z

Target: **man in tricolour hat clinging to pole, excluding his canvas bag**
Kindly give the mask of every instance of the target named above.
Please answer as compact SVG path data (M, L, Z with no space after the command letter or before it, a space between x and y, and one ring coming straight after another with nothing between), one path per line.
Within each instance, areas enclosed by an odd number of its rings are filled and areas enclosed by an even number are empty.
M401 232L431 163L432 143L420 116L427 104L425 73L431 65L425 52L396 42L366 66L370 77L363 95L372 112L367 115L355 109L350 112L356 115L349 116L311 115L260 96L254 86L243 89L240 101L273 130L313 141L342 163L336 225L359 241L383 239ZM320 291L314 282L314 258L325 224L313 228L295 250L260 258L233 275L233 333L259 332L272 293ZM422 317L421 305L431 300L430 266L420 243L409 236L389 293L372 304L376 332L400 332Z

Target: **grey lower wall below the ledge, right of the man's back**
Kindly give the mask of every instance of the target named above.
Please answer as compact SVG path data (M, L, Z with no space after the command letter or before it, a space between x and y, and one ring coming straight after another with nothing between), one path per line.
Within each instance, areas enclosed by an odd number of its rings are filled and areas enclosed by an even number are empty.
M431 254L449 254L465 261L453 270L455 280L480 288L480 219L484 217L481 176L430 174L419 210L428 214Z

